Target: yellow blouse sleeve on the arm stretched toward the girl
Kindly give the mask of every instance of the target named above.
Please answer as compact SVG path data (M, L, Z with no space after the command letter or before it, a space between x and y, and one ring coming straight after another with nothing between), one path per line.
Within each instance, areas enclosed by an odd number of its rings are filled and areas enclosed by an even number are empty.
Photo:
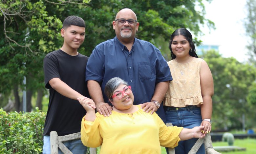
M181 141L179 134L183 127L166 126L159 116L156 116L159 125L159 141L160 145L164 147L176 147L178 142Z

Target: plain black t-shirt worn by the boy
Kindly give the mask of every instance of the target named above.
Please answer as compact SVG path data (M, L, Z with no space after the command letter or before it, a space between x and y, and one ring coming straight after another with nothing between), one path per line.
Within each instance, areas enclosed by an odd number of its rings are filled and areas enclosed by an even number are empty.
M77 100L67 98L55 91L49 81L60 78L75 91L90 97L85 82L88 57L80 53L71 56L62 50L48 53L44 58L45 87L50 90L44 135L56 131L59 136L80 132L82 117L86 110Z

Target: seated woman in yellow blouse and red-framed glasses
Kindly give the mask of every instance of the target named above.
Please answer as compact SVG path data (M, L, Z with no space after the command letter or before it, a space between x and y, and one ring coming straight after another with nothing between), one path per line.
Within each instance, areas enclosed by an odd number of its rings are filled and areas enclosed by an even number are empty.
M160 154L160 146L175 147L180 140L205 136L203 126L167 127L156 113L146 113L140 105L133 105L131 87L120 78L110 79L105 93L114 106L109 117L95 114L92 100L78 98L87 111L81 123L81 141L88 147L101 145L100 153Z

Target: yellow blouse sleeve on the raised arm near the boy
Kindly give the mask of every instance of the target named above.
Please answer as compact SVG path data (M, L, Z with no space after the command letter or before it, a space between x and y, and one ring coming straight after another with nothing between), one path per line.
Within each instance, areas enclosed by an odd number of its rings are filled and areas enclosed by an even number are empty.
M85 116L84 116L85 117ZM82 119L81 123L81 141L87 147L98 147L102 144L102 137L99 133L99 120L86 121Z

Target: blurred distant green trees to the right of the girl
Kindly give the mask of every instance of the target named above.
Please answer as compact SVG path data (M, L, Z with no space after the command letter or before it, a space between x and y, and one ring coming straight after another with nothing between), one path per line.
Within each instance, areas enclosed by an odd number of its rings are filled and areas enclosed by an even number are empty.
M248 87L255 82L256 68L240 63L233 57L223 58L214 50L205 52L203 59L208 63L214 80L212 99L215 129L242 129L243 114L248 120L245 121L247 127L255 125L249 120L253 120L251 107L256 107L256 104L249 103L246 97Z

